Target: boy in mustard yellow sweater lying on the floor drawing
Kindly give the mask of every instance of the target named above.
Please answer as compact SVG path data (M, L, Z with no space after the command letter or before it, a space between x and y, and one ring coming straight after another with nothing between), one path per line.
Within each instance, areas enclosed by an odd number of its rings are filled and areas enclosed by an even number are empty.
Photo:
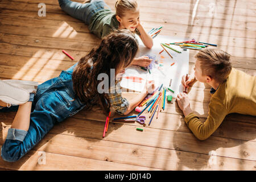
M232 68L230 55L220 49L203 49L195 56L195 76L183 76L183 86L195 81L212 86L209 115L203 123L191 110L187 94L177 95L185 123L199 140L205 140L220 126L230 113L256 115L256 77Z

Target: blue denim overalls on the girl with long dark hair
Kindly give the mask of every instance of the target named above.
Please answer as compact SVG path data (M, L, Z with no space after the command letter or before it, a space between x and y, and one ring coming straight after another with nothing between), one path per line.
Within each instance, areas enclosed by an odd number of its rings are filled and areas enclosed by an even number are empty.
M16 162L31 150L56 122L71 117L85 107L73 91L73 65L62 71L59 77L52 78L38 86L32 102L30 127L28 131L9 129L1 156L7 162ZM6 110L13 108L7 108Z

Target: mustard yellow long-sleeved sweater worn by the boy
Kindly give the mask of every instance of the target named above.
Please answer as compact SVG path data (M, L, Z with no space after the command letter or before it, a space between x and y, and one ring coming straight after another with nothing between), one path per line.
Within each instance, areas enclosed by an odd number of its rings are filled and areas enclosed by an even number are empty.
M185 122L196 138L205 140L230 113L256 115L256 77L234 68L212 94L207 120L200 122L195 113L190 113Z

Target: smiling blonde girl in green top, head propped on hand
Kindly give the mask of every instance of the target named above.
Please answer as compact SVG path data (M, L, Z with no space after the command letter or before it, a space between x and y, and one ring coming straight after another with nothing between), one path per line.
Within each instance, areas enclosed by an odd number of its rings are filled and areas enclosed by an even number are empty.
M118 0L115 13L104 0L91 0L84 3L59 0L65 13L80 19L88 25L89 31L102 39L114 30L128 29L141 38L144 46L152 48L153 40L144 30L139 20L138 4L135 0ZM133 65L147 67L151 63L147 56L134 58Z

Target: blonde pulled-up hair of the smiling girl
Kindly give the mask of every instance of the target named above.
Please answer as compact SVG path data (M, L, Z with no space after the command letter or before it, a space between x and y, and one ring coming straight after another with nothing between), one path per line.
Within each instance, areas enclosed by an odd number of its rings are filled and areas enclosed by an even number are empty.
M115 15L120 17L125 15L125 11L136 11L138 3L136 0L117 0L115 2Z

